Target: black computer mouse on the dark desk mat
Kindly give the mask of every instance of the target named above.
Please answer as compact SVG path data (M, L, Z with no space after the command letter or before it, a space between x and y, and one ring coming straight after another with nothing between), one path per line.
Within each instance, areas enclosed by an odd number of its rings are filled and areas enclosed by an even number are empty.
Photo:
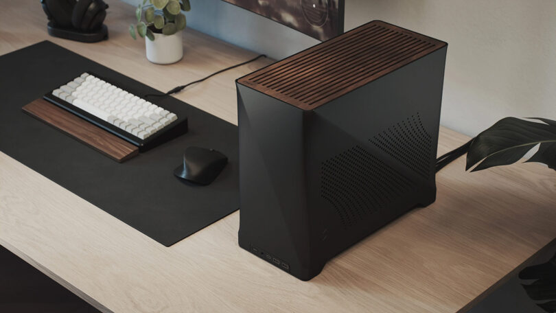
M188 147L183 162L174 170L174 175L197 185L209 185L222 172L228 158L213 149Z

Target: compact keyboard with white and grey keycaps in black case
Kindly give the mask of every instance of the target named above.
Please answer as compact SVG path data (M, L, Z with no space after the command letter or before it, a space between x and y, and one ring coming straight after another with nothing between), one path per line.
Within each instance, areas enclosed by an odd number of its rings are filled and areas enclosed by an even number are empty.
M187 117L141 99L118 86L82 73L44 96L146 151L187 132Z

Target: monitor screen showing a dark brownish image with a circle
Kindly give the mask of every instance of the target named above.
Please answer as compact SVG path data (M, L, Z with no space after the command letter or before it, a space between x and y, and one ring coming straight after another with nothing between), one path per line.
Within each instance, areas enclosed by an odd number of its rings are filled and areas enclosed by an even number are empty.
M344 0L224 0L318 40L344 32Z

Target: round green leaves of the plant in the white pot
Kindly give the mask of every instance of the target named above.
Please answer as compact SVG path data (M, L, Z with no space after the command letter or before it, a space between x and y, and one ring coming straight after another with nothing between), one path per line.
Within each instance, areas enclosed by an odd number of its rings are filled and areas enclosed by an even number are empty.
M184 30L187 25L187 19L181 11L189 12L189 10L191 10L189 0L143 0L135 10L137 24L129 26L129 33L133 39L137 39L135 33L137 29L137 34L141 38L147 37L150 40L154 40L155 32L161 32L166 36L176 34ZM143 16L144 21L141 21Z

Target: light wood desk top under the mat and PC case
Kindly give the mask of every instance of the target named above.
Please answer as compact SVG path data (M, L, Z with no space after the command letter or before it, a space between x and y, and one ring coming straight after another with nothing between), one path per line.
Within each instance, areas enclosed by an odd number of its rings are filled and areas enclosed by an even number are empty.
M183 60L152 65L128 35L133 8L110 5L110 40L83 44L49 37L38 1L10 1L0 54L48 39L162 91L255 55L187 30ZM237 123L234 79L268 62L176 97ZM441 128L439 153L466 140ZM238 212L165 248L0 153L0 244L104 312L465 312L555 239L556 174L534 164L466 173L461 158L437 185L433 205L303 282L238 246Z

